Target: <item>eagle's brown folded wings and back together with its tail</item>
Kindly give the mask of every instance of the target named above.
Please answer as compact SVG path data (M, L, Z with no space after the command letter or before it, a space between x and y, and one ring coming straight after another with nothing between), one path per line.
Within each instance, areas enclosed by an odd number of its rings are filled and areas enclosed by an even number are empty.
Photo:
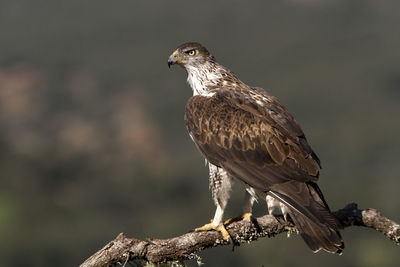
M221 89L212 97L189 99L185 121L190 136L209 162L285 203L313 251L341 253L337 221L315 183L317 155L274 97L251 90L258 99L249 92Z

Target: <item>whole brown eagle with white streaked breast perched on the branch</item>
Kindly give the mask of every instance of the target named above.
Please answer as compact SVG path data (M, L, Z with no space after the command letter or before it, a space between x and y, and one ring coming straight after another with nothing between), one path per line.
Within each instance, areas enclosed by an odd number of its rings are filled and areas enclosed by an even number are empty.
M252 87L215 61L199 43L180 45L168 58L188 74L193 90L186 104L190 137L209 164L210 188L217 207L214 219L195 231L217 230L225 240L223 221L233 180L245 186L243 214L251 220L257 197L268 212L289 215L305 243L341 254L339 222L317 185L320 160L288 110L265 90Z

